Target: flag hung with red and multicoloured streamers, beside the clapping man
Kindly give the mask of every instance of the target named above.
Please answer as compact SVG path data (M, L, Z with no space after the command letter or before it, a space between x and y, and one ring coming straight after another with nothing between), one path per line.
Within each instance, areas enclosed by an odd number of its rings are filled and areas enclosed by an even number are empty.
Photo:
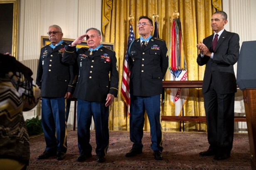
M170 42L169 80L186 81L187 63L183 49L181 22L177 17L172 20ZM187 88L172 88L170 90L170 102L175 106L175 115L180 116L189 97L189 90Z

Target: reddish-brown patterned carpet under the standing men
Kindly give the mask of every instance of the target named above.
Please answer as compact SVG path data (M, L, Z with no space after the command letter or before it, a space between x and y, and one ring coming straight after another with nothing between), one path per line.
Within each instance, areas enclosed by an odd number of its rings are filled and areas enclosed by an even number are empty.
M37 160L45 148L44 136L30 139L31 157L27 170L251 170L249 139L247 134L234 134L231 158L214 160L214 156L200 157L199 152L207 150L207 133L164 133L163 160L155 160L150 148L150 133L144 132L143 153L126 158L132 147L127 131L110 131L110 143L106 162L96 162L95 131L91 131L92 158L76 162L79 155L77 131L68 131L68 150L64 160L51 157Z

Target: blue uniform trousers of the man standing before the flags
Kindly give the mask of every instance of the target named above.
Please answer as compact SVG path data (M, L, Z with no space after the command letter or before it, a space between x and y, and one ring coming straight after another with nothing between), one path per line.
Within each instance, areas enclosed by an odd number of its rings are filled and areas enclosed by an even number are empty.
M148 114L151 133L151 148L162 152L162 125L160 122L160 95L138 97L130 95L130 141L133 149L142 150L145 110Z

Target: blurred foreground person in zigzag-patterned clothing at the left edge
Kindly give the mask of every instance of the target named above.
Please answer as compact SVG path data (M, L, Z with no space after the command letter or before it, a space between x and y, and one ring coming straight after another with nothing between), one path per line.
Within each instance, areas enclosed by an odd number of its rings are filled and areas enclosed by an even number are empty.
M10 55L0 54L0 169L25 170L30 142L23 111L33 109L40 90L32 70Z

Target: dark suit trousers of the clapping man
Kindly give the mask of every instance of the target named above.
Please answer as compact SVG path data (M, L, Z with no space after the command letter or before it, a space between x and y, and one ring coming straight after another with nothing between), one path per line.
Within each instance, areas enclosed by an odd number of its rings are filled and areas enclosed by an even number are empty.
M235 94L218 94L211 82L203 96L209 148L220 153L230 153L234 138Z

